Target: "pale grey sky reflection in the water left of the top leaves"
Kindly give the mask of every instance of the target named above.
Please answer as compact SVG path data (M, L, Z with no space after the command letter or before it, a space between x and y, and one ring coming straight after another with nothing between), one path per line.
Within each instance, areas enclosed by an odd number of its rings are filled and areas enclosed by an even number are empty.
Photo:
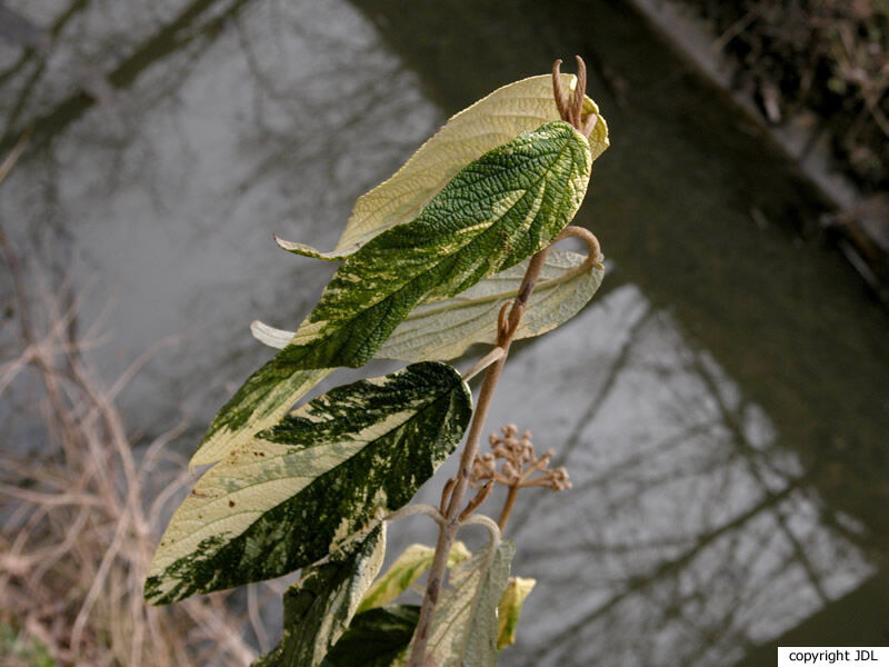
M127 11L141 24L148 8ZM83 16L73 43L109 31L108 17ZM250 320L296 327L332 268L284 253L272 233L332 247L351 202L440 120L417 89L348 6L256 3L217 41L181 44L121 91L121 104L94 107L13 172L0 210L20 255L92 282L83 321L113 305L104 325L113 339L97 357L109 377L156 341L189 335L124 394L139 406L136 426L179 410L206 421L226 385L268 356ZM38 115L52 103L30 106Z

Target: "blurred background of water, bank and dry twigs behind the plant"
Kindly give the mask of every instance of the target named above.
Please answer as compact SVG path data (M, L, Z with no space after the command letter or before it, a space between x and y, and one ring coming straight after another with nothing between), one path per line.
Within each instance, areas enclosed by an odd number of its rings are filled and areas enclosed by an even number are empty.
M0 4L0 661L244 665L277 643L286 583L141 600L184 461L271 356L250 321L296 328L332 273L272 233L332 248L450 115L575 53L611 136L576 223L608 275L513 347L488 424L531 429L573 481L519 497L513 573L538 585L502 664L889 644L887 17ZM394 528L393 552L433 539Z

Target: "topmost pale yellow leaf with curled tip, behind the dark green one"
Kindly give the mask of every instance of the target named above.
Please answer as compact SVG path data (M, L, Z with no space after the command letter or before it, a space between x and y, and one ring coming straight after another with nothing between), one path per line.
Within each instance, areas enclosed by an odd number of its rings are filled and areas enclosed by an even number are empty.
M562 88L575 90L577 77L561 74ZM590 98L583 113L599 113ZM286 250L319 259L343 259L378 233L413 220L463 167L512 141L522 132L559 120L549 74L531 77L495 90L453 116L386 182L358 198L332 252L278 239ZM608 148L608 126L600 116L590 136L592 159Z

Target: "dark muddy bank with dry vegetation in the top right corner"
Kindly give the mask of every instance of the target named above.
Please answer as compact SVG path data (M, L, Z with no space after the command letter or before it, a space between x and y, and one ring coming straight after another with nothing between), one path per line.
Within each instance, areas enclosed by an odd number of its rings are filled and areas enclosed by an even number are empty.
M820 230L889 305L889 11L870 2L632 4L832 201Z

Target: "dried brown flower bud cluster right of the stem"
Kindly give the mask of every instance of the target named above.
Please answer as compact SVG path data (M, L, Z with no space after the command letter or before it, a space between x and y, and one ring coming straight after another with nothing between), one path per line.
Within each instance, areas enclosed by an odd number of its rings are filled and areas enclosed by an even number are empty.
M531 442L531 431L523 431L517 437L519 429L508 424L500 434L491 434L489 442L491 451L476 457L472 464L472 486L481 486L490 480L509 487L547 487L553 491L571 488L568 471L563 466L556 469L549 467L552 449L547 449L539 458ZM501 461L497 469L497 461ZM535 476L536 472L539 475ZM533 476L533 477L532 477Z

